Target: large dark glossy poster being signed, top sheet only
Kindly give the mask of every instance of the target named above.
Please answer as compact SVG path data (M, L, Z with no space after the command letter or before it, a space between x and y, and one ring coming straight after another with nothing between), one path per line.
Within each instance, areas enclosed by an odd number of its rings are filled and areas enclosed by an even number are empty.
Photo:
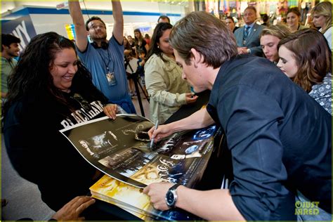
M191 187L207 165L216 126L175 133L151 149L153 125L138 115L118 115L60 132L90 164L119 181L138 188L163 181Z

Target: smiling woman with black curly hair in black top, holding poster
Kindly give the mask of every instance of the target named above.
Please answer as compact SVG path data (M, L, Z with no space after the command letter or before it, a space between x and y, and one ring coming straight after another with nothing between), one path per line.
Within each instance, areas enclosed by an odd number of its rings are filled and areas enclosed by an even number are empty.
M41 199L58 211L86 195L98 171L59 130L102 117L117 105L93 86L72 41L48 32L34 37L8 80L4 138L18 174L36 183Z

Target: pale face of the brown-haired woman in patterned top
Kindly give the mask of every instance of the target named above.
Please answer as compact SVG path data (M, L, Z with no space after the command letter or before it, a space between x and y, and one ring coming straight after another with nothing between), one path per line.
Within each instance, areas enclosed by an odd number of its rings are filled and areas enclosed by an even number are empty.
M294 58L294 53L290 51L285 46L280 46L279 48L279 63L278 67L282 72L284 72L287 77L294 78L296 76L296 72L299 70L297 67L296 59Z

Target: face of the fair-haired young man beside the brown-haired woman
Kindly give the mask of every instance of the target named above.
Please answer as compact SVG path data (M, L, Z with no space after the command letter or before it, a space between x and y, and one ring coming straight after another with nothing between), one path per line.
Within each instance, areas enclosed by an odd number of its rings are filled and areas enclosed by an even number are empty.
M278 62L279 53L278 53L278 44L280 39L270 34L266 34L260 38L260 45L263 48L263 53L266 58L271 62Z

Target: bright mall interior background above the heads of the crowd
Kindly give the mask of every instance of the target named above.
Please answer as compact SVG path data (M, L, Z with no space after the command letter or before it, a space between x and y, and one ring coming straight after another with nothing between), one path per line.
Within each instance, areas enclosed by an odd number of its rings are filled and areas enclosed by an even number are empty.
M98 15L107 24L107 35L112 34L113 18L111 1L80 0L84 11L84 19ZM176 23L191 11L207 11L218 18L231 15L237 25L242 25L241 15L247 6L255 6L258 20L266 13L270 23L280 22L288 7L299 7L303 24L309 22L309 11L316 3L314 0L205 0L205 1L122 1L124 11L124 35L132 35L133 30L140 29L143 34L152 34L157 25L159 15L168 15L171 24ZM1 32L11 33L21 39L20 48L36 34L54 31L65 37L74 39L74 27L68 13L67 1L1 1Z

